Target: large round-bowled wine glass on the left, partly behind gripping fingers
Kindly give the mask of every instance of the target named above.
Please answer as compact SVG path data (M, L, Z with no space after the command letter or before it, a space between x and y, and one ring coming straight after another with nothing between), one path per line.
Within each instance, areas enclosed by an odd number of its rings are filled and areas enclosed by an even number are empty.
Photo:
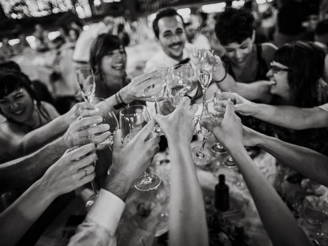
M101 145L103 145L103 146L112 145L113 144L113 136L115 135L115 133L118 129L118 121L116 119L116 116L113 113L113 111L110 109L110 107L107 105L104 98L93 98L93 99L94 100L92 100L91 102L86 102L86 103L82 104L81 107L79 108L81 118L89 116L87 114L84 114L84 112L88 111L88 110L94 110L97 112L96 115L103 117L103 121L100 122L99 124L108 124L110 126L111 135L109 136L108 139L105 139L103 142L100 142L100 144L98 144L98 145L100 145L100 146ZM93 127L93 125L91 127ZM95 135L99 136L101 134L103 134L103 133L97 133ZM88 137L94 137L95 135L88 136ZM94 165L95 164L96 164L96 162L94 162ZM93 192L95 193L95 196L91 197L87 201L87 203L86 203L87 208L92 206L92 204L94 203L94 200L96 199L96 197L98 195L94 180L91 181L91 186L92 186Z

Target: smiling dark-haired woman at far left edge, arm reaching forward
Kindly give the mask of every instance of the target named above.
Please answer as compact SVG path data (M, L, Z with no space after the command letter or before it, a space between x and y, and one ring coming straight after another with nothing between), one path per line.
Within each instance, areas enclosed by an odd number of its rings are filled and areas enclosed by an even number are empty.
M74 106L64 115L40 101L31 80L22 72L0 73L0 163L37 150L64 133L77 117Z

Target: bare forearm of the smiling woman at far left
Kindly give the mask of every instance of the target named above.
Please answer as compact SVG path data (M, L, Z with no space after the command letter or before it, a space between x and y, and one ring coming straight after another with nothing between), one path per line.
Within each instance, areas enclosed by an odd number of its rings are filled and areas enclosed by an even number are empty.
M21 140L24 153L31 153L63 134L69 127L65 117L66 115L60 115L48 124L26 134Z

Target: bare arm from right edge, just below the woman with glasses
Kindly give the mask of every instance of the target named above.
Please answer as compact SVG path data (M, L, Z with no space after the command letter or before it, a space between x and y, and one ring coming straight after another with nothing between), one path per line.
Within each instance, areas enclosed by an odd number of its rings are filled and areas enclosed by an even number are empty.
M271 124L294 130L328 127L328 112L318 107L298 108L256 104L236 93L233 93L233 96L237 100L235 110L242 115L251 115Z

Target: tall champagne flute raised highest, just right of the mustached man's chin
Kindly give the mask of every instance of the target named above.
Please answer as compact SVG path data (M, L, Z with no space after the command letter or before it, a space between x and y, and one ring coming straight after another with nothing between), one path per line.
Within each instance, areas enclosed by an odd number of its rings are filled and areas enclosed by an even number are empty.
M203 92L203 107L206 104L206 90L209 87L214 70L214 51L207 49L193 50L193 65Z

